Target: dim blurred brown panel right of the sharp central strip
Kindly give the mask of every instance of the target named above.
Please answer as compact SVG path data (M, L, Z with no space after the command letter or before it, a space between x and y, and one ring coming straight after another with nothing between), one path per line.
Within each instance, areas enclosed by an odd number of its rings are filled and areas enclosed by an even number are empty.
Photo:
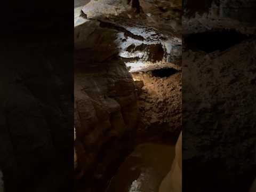
M183 1L183 192L256 178L256 1Z

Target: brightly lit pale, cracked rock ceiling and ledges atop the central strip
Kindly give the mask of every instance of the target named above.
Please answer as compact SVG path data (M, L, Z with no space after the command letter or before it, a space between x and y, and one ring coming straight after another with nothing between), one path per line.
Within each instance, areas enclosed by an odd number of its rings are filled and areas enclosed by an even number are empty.
M168 21L163 20L161 15L173 9L181 9L177 2L173 5L169 1L157 1L158 11L155 10L154 3L140 2L141 9L145 11L134 14L126 1L91 1L82 7L87 19L75 13L77 47L81 47L82 43L83 48L100 50L100 57L94 52L97 59L104 59L105 54L106 57L118 54L132 72L152 70L156 68L155 62L162 62L162 66L158 65L158 68L168 67L168 63L180 65L180 31L177 27L167 27L169 21L181 20L180 14L175 15L175 19L167 19ZM83 42L88 35L91 35L91 39L85 44ZM106 36L104 41L100 38Z

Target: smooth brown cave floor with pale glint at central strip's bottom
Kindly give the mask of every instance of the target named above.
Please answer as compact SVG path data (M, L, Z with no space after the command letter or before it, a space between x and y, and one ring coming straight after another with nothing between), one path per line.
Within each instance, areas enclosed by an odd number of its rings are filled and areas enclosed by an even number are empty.
M119 167L106 192L157 192L171 169L174 148L155 143L137 146Z

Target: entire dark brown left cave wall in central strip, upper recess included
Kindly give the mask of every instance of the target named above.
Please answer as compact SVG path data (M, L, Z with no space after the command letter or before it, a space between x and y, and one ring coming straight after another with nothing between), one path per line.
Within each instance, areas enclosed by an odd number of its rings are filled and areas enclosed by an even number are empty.
M118 33L98 21L75 30L76 175L82 182L110 179L133 146L138 89L118 58Z

